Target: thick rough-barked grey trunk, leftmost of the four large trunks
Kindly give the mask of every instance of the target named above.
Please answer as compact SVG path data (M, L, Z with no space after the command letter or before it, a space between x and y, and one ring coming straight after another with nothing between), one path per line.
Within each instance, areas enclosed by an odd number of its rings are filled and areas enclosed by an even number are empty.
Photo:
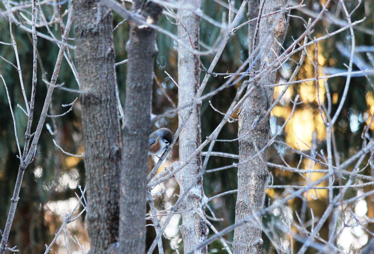
M90 254L118 239L120 137L115 94L112 15L98 1L75 0L88 201Z

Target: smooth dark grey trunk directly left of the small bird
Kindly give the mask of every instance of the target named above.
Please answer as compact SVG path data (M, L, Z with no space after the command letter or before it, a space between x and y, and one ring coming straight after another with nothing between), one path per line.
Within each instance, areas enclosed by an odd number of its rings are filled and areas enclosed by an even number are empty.
M135 0L133 12L156 24L162 7L147 0ZM127 43L125 128L120 197L120 252L145 253L146 184L148 137L151 130L150 101L155 54L155 31L131 21Z

